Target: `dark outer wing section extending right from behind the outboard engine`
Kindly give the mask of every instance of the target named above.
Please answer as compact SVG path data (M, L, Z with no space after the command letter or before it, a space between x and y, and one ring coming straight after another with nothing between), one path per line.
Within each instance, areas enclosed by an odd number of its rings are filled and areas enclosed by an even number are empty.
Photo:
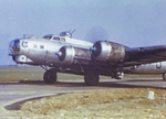
M126 48L125 65L139 65L166 61L166 45Z

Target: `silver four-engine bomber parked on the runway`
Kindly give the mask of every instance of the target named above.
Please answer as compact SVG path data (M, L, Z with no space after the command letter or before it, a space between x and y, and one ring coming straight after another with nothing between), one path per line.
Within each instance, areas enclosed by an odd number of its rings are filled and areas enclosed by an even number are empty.
M71 32L17 39L9 47L15 63L43 67L46 84L55 83L56 73L70 73L84 75L85 84L93 86L98 75L120 79L128 67L166 61L165 45L132 48L110 41L91 43L73 39Z

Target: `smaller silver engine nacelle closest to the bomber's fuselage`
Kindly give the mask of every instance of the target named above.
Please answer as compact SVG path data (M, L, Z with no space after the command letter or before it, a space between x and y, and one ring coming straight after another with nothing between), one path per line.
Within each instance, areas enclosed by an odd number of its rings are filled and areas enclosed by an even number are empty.
M91 51L81 47L63 46L56 54L64 64L89 64L91 61Z

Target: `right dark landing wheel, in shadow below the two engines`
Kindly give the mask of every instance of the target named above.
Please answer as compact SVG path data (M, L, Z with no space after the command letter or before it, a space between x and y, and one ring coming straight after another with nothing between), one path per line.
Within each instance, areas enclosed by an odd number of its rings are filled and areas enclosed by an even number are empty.
M84 75L84 82L87 86L96 86L98 85L100 77L98 74L94 71L86 71Z

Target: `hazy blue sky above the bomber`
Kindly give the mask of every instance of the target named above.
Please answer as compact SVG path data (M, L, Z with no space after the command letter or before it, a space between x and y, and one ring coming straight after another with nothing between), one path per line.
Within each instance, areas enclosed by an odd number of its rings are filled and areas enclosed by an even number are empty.
M0 65L9 42L75 30L73 37L131 47L166 45L166 0L0 0Z

